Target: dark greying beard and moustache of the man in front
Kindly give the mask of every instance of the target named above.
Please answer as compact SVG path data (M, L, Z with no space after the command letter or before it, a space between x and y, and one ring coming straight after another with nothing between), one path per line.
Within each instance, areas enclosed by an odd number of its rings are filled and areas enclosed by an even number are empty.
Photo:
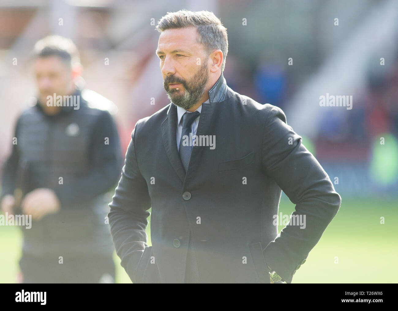
M181 108L188 110L196 104L205 92L205 87L209 81L208 64L209 56L207 56L203 65L189 81L179 79L173 76L166 76L163 81L163 87L167 92L168 98ZM170 87L169 84L181 83L177 87Z

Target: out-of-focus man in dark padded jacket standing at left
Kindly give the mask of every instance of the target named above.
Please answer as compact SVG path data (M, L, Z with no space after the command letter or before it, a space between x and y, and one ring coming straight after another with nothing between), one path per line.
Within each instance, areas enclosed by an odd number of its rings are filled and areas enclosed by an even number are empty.
M32 218L21 227L21 281L113 283L107 191L123 159L115 121L82 97L71 40L45 37L33 58L39 95L18 118L2 174L2 211Z

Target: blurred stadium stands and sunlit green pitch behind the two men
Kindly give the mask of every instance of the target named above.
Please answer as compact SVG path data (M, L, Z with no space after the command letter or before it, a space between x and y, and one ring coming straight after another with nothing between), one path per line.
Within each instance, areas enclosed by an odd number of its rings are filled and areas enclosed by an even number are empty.
M29 53L49 34L78 46L85 85L110 100L124 155L137 120L169 103L154 27L166 12L182 8L220 17L228 32L228 85L281 107L342 197L293 283L396 282L397 0L1 0L0 165L18 114L35 96ZM326 93L352 95L352 109L320 106ZM293 210L283 194L280 212ZM147 233L151 245L149 225ZM18 228L0 226L1 283L16 282L21 242ZM129 283L114 257L117 282Z

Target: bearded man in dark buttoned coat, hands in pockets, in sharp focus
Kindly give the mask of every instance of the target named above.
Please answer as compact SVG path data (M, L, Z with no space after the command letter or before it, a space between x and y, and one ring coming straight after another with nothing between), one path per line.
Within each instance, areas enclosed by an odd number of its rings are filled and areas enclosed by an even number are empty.
M134 283L291 283L339 194L280 108L228 87L213 13L168 13L156 29L172 102L131 134L108 214L121 265ZM278 234L281 190L296 207Z

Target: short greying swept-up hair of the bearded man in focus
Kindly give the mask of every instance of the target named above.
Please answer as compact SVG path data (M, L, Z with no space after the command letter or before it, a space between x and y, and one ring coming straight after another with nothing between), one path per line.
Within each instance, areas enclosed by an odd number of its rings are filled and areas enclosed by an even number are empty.
M228 35L226 28L213 12L192 12L185 9L178 12L167 12L167 15L164 15L158 21L155 29L161 33L166 29L186 27L196 27L196 31L199 34L198 43L205 46L208 54L216 49L222 51L224 59L222 60L221 72L224 71L226 54L228 54Z

